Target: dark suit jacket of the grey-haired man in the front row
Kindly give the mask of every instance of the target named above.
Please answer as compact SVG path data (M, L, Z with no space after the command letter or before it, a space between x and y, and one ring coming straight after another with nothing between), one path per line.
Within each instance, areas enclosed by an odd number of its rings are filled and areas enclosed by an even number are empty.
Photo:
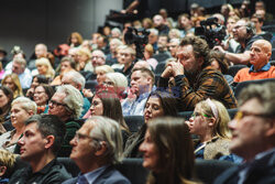
M76 184L77 177L69 178L63 184ZM114 166L108 166L94 182L96 184L131 184Z

